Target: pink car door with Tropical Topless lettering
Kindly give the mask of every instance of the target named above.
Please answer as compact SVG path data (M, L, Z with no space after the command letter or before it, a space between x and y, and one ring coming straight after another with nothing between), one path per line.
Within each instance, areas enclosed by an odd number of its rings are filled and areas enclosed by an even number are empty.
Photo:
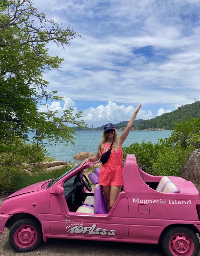
M119 195L109 214L70 212L64 195L51 195L49 225L51 237L126 239L129 232L127 198Z

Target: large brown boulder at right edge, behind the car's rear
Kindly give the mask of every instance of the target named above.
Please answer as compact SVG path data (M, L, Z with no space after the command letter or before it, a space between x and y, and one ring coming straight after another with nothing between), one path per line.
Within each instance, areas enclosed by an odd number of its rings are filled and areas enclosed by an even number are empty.
M194 150L188 157L181 177L190 180L200 191L200 149Z

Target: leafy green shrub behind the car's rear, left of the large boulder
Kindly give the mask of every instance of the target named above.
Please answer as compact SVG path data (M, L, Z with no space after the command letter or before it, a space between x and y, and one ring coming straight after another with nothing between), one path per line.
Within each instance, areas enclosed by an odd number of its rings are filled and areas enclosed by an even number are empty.
M180 176L187 157L194 151L194 146L187 149L180 145L171 146L169 140L158 139L154 145L143 141L123 148L123 160L127 154L135 154L137 164L149 174L156 176Z

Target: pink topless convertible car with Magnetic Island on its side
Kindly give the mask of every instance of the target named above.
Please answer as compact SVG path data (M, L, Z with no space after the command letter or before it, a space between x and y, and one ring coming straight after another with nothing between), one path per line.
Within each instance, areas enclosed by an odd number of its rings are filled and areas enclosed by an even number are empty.
M162 243L167 256L197 256L200 195L190 181L153 176L127 155L123 188L108 213L98 184L100 169L77 165L59 178L25 187L5 199L0 208L0 234L10 229L9 242L19 252L36 249L48 238Z

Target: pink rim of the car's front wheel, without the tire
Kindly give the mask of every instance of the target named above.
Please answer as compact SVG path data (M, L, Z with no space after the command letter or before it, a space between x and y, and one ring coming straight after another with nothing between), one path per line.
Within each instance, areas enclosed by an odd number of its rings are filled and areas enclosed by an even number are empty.
M37 238L37 231L29 225L18 228L14 234L15 244L21 248L32 246L37 241Z

